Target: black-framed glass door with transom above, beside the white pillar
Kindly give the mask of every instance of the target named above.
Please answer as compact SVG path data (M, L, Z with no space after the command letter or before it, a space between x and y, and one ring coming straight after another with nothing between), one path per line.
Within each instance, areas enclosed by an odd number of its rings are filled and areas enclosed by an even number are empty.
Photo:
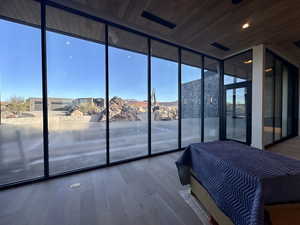
M224 60L225 139L251 144L252 50Z

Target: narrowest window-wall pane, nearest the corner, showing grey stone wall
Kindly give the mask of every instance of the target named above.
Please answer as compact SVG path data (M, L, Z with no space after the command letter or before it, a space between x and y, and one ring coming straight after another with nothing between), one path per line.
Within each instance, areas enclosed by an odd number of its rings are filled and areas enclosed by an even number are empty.
M219 62L205 57L204 141L219 139Z

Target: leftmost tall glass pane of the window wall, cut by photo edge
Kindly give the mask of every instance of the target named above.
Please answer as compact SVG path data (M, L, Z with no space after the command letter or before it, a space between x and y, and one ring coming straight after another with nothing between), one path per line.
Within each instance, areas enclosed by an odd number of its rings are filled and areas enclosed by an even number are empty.
M22 19L17 2L27 4L31 21ZM44 175L40 5L9 1L6 6L0 7L1 16L34 26L0 19L0 184Z

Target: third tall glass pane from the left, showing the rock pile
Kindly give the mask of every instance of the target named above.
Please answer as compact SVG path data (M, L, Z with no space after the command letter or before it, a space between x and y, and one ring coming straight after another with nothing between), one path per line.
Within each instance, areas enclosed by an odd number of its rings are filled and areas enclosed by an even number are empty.
M147 39L112 27L109 37L110 160L120 161L148 154Z

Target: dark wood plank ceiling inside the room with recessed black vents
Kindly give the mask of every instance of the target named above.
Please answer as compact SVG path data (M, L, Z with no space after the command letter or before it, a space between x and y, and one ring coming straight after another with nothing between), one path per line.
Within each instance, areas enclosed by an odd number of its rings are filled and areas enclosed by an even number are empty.
M300 0L55 0L201 52L224 58L257 44L275 46L300 64ZM175 23L169 29L151 22L147 10ZM250 28L242 30L246 22ZM219 42L230 51L212 47Z

